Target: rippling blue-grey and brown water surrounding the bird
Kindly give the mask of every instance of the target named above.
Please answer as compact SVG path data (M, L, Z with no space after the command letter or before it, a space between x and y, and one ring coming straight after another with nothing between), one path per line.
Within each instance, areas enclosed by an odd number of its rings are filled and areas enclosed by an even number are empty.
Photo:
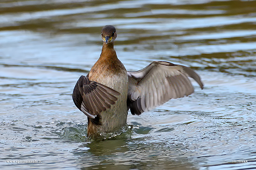
M1 0L0 169L255 168L255 9L235 0ZM93 142L71 95L107 24L128 71L169 61L192 67L205 88L193 82L191 96L129 113L128 126Z

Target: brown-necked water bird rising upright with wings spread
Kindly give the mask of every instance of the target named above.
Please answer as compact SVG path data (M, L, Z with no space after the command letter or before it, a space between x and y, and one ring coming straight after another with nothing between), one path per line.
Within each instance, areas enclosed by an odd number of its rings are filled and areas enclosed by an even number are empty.
M192 68L166 61L153 61L139 71L126 71L114 50L116 28L102 28L102 52L87 76L73 89L73 102L87 116L87 136L113 132L126 125L128 110L140 115L169 101L194 92L189 77L203 90Z

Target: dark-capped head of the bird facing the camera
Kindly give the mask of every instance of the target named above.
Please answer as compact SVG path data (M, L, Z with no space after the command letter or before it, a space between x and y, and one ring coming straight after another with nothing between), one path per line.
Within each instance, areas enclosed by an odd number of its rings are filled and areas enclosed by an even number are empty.
M102 41L106 44L113 43L116 40L116 28L111 25L104 26L102 28Z

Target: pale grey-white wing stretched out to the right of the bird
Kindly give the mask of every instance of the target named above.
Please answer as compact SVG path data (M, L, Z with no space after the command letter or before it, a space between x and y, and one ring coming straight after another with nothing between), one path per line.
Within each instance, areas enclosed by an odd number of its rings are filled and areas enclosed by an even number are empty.
M170 62L152 62L139 71L129 71L127 106L132 114L151 110L169 99L188 96L194 88L188 77L192 77L203 89L198 74L191 68Z

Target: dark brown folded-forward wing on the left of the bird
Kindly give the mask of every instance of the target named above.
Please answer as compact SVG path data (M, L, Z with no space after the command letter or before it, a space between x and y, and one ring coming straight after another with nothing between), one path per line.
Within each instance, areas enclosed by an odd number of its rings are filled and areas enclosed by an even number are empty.
M86 116L95 118L97 114L115 104L119 92L81 76L73 90L73 101Z

